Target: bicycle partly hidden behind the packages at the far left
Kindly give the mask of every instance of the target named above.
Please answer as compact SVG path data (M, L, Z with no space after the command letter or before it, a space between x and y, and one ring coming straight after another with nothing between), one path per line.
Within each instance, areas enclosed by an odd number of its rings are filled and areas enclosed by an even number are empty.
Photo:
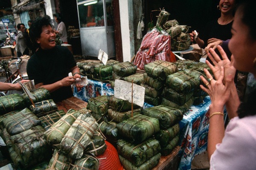
M17 61L11 63L11 65L16 65L17 70L11 74L11 71L9 70L9 62L5 63L2 62L2 68L4 68L5 72L6 72L6 81L5 82L9 82L9 83L17 83L20 82L22 79L29 79L28 76L24 76L21 72L20 72L20 62L22 61L21 58L12 58L12 59L17 59ZM10 91L5 91L5 92L1 92L0 95L4 95L4 94L23 94L23 91L15 91L15 90L10 90Z

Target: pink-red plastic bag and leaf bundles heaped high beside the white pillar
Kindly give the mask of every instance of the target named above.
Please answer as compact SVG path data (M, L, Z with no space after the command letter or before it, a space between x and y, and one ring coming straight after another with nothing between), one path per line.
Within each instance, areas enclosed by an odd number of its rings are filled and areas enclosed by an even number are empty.
M133 60L140 70L144 70L146 64L156 60L175 62L172 51L184 51L189 48L189 27L179 25L177 20L168 20L169 15L165 10L160 11L156 26L143 37Z

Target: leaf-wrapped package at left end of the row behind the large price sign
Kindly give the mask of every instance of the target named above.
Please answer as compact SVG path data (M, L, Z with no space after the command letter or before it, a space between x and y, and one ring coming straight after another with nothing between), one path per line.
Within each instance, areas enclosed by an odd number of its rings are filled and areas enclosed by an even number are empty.
M99 115L105 115L108 113L108 98L106 95L92 97L89 99L86 106L90 111Z

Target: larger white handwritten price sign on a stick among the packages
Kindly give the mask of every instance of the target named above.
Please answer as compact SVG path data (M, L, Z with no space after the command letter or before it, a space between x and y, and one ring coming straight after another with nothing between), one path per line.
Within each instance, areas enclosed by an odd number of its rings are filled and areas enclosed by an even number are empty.
M133 95L133 103L143 107L145 88L133 83L133 93L131 93L131 82L116 79L114 87L114 96L118 99L128 100L131 102L131 95Z

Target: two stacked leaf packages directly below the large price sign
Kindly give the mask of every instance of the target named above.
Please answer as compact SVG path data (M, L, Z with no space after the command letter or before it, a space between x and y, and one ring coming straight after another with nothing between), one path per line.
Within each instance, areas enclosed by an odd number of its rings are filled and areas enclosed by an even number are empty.
M127 100L118 99L113 95L108 97L108 118L114 122L120 123L131 117L131 103ZM133 115L141 113L142 108L136 104L133 105Z

